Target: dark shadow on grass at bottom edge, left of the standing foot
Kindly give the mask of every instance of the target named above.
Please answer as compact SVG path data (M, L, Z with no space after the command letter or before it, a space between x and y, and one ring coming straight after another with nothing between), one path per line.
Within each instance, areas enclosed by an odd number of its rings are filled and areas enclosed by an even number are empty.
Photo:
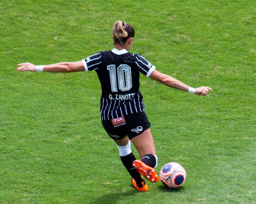
M132 196L136 193L138 192L135 189L127 192L110 193L95 198L95 201L91 201L89 204L116 204L119 200L125 201L126 196Z

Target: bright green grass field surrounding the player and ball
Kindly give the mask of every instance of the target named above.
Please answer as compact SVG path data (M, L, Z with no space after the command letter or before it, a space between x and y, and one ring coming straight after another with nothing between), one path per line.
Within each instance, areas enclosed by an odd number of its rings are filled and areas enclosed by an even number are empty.
M208 97L141 76L159 172L187 179L137 192L100 121L95 72L17 72L111 50L130 52ZM256 204L256 1L0 0L0 204ZM139 157L134 147L135 155Z

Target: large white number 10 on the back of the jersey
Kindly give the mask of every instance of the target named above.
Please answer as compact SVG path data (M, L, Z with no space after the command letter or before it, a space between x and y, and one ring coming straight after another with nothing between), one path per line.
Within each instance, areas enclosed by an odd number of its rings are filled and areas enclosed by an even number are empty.
M131 67L127 64L121 64L117 69L116 65L108 65L109 75L110 75L110 83L112 92L118 92L119 90L125 92L131 89ZM116 79L116 71L117 71L117 79ZM118 85L117 87L117 81Z

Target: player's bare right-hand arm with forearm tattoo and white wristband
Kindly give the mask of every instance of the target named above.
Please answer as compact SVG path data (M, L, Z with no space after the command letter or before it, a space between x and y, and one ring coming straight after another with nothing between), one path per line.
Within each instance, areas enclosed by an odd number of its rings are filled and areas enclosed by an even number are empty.
M157 70L154 70L149 77L151 79L154 79L154 80L166 85L166 86L170 86L175 89L180 89L180 90L186 91L186 92L187 91L189 91L189 92L195 91L194 93L197 95L207 96L208 91L209 90L212 91L212 89L210 87L205 87L205 86L201 86L194 90L193 88L189 87L185 83L182 83L181 81L179 81L169 75L162 74L161 72L158 72Z

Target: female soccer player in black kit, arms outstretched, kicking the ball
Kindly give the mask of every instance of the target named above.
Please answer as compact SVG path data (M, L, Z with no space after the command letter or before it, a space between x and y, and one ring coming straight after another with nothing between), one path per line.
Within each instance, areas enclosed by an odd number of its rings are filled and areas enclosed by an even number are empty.
M78 62L61 62L35 66L31 63L17 64L17 71L24 72L82 72L95 70L102 86L101 119L108 135L116 142L121 161L131 175L133 186L139 191L147 191L145 176L151 182L158 181L157 155L150 132L150 123L145 114L143 96L139 91L140 73L166 86L182 91L207 96L209 87L194 89L158 72L140 54L131 54L129 49L134 40L134 29L128 23L117 21L113 25L114 49L97 52ZM140 154L136 160L131 151L131 143Z

